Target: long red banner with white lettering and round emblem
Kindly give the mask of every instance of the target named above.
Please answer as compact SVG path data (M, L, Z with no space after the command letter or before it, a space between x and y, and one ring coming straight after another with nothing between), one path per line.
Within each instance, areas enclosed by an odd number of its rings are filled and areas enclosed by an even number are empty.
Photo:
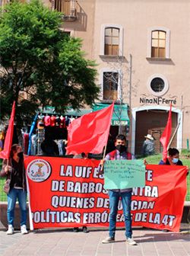
M97 160L25 159L30 228L108 226L109 198ZM147 165L146 185L134 188L133 226L179 231L186 194L185 166ZM119 202L117 226L124 226Z

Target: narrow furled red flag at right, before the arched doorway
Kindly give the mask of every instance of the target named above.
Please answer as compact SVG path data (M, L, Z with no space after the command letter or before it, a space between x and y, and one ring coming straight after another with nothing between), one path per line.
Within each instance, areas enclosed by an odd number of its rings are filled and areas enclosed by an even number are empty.
M171 132L172 132L172 104L170 105L166 128L164 129L163 134L160 137L160 142L163 145L163 162L166 162L167 146L169 143L169 138L171 136Z

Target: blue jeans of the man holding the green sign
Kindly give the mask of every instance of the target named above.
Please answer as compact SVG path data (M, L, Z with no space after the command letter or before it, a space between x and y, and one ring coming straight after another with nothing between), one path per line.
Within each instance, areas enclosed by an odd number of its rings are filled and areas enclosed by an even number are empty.
M119 197L122 198L122 209L125 219L125 236L126 238L131 238L131 192L121 193L112 190L109 190L109 237L115 237Z

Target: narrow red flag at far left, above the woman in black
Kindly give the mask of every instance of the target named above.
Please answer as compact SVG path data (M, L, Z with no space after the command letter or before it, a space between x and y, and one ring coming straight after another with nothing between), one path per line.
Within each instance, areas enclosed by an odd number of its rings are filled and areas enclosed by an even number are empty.
M12 105L11 118L8 123L8 130L5 136L5 144L3 150L0 152L0 158L8 159L11 152L12 137L14 131L14 116L15 116L15 101Z

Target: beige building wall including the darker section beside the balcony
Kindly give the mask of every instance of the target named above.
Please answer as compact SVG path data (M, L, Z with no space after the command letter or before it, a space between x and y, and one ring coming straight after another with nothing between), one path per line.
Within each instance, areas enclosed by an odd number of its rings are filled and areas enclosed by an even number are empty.
M159 119L159 113L164 112L167 119L169 102L173 103L173 114L176 115L173 130L177 121L181 120L173 146L186 148L187 139L190 139L189 13L188 0L78 0L77 19L64 21L62 25L65 31L71 31L72 36L82 38L87 58L96 59L97 84L101 88L103 72L122 72L122 88L118 89L118 98L122 98L130 107L128 139L132 152L135 152L137 143L141 146L141 141L137 142L136 138L144 139L142 134L137 136L137 133L141 133L137 131L139 114L146 110L149 112L147 118L151 119L152 113ZM106 26L119 27L119 54L124 56L123 60L103 54L103 31ZM166 31L165 59L150 58L151 30ZM157 95L150 90L150 81L155 77L165 82L165 93ZM103 91L100 100L102 96ZM144 120L141 124L145 126L144 133L145 130L151 132L151 127L146 123ZM159 123L159 120L154 120L152 124L154 132L159 126L155 123Z

